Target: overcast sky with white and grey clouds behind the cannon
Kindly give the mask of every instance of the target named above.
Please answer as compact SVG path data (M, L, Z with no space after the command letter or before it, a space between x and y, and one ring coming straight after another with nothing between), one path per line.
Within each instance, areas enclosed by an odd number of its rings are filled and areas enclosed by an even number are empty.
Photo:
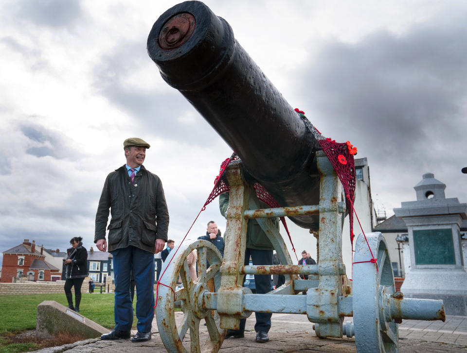
M183 238L231 150L147 55L153 23L176 3L0 3L0 252L25 238L95 247L104 180L136 136L151 144L144 165L162 180L169 237ZM465 1L205 3L294 108L368 158L379 209L415 200L426 172L467 202ZM211 219L225 230L217 202L189 237ZM297 251L314 254L290 223Z

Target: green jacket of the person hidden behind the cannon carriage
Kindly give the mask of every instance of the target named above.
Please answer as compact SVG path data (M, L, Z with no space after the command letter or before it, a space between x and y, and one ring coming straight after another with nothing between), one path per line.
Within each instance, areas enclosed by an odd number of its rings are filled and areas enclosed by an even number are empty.
M226 192L219 196L219 209L222 216L226 217L227 207L229 207L230 193ZM267 208L268 206L260 202L261 206ZM271 219L272 223L279 228L279 220L277 218ZM268 236L264 233L261 226L256 219L249 219L247 224L247 248L256 250L274 250Z

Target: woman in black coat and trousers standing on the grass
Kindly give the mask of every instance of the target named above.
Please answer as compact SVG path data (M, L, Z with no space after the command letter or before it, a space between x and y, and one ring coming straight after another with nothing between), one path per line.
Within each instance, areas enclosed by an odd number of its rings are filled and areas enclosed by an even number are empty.
M67 258L63 259L66 265L65 295L68 300L68 307L76 312L79 311L81 302L81 285L84 278L88 276L88 251L83 247L81 236L75 236L70 240L72 247L67 250ZM72 286L74 286L73 306Z

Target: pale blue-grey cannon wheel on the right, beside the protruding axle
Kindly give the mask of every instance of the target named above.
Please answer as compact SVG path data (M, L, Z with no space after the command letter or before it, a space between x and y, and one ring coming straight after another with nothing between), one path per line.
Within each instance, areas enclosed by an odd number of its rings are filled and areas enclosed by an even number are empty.
M366 235L377 264L363 235L355 245L353 269L353 312L355 343L358 353L397 353L399 326L385 318L383 301L395 292L394 273L386 240L381 233ZM376 266L377 265L377 266Z

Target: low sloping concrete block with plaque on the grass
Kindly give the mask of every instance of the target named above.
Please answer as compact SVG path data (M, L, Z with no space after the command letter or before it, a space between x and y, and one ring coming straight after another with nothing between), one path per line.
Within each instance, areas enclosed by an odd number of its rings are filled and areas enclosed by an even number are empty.
M61 332L96 338L109 330L55 301L37 305L36 337L51 338Z

